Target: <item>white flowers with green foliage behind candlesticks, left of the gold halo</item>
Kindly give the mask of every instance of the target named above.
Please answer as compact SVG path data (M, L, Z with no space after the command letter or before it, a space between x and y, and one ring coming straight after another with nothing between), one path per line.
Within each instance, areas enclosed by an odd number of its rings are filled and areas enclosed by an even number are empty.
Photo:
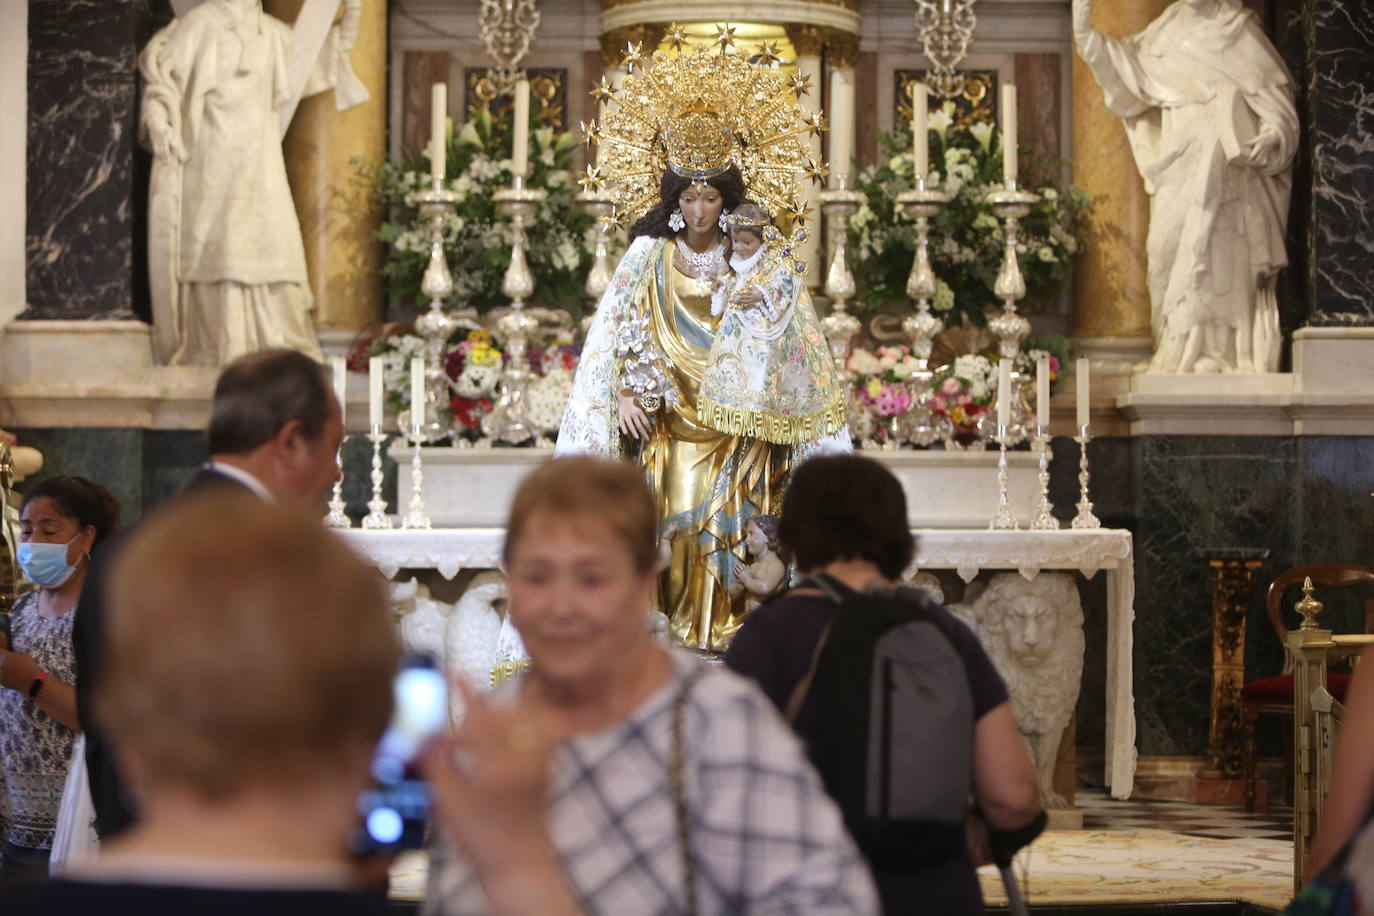
M592 217L577 203L573 169L576 140L570 132L555 133L537 124L530 129L529 187L548 198L526 224L526 258L534 277L534 295L544 304L577 308L591 268ZM412 191L430 187L429 161L407 154L382 163L361 161L361 179L370 185L374 205L387 214L378 238L387 244L382 273L387 293L420 305L420 280L429 262L429 228ZM510 220L502 216L492 195L511 184L511 130L478 113L456 132L448 132L448 190L459 195L444 225L444 253L453 275L453 302L486 312L503 305L502 279L510 264Z

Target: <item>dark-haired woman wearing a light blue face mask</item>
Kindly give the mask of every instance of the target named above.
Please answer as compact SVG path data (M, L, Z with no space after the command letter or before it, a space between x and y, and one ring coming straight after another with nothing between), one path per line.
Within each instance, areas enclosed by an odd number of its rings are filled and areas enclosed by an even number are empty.
M91 552L114 530L120 501L80 477L52 477L25 496L18 559L37 591L10 615L0 650L0 762L10 801L0 889L44 878L77 724L71 611Z

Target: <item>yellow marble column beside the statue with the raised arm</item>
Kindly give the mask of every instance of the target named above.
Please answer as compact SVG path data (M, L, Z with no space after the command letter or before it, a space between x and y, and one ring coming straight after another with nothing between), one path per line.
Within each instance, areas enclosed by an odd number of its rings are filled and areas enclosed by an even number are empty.
M1171 0L1092 4L1092 26L1112 37L1140 32ZM1090 353L1149 356L1150 293L1145 239L1150 198L1092 71L1073 56L1073 183L1092 198L1087 238L1073 272L1073 336ZM1094 353L1096 354L1096 353Z

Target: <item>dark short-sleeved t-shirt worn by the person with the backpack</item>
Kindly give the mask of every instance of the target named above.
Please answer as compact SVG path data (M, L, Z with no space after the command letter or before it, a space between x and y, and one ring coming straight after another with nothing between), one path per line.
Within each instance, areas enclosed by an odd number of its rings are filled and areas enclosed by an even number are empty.
M786 711L793 691L811 667L816 641L835 607L824 595L797 593L760 604L731 640L725 666L756 681L778 710ZM1006 703L1007 687L974 632L943 607L927 606L927 610L940 618L944 632L963 658L974 721ZM812 703L802 703L793 728L809 751L816 735ZM874 869L874 880L886 916L971 916L984 912L978 876L966 850L954 858L911 871Z

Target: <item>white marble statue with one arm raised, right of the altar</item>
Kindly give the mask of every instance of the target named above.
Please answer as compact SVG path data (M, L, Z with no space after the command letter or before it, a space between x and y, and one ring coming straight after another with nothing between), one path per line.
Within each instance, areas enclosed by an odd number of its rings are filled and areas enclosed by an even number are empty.
M1275 372L1287 264L1293 78L1238 0L1176 0L1110 38L1073 0L1079 54L1150 194L1150 372Z

